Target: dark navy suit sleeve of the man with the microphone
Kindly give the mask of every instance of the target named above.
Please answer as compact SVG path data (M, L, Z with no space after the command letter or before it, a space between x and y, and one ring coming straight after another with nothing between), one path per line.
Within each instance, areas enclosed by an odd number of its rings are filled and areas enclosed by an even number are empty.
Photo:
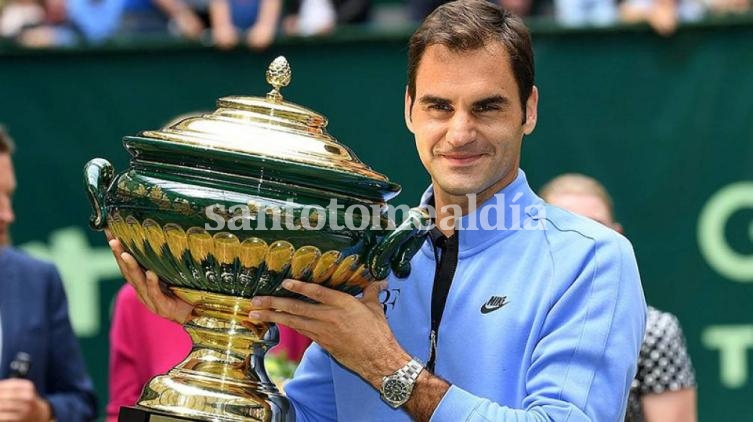
M50 267L47 277L49 311L49 368L45 375L47 391L42 393L60 422L93 420L97 400L86 372L78 339L68 318L68 301L60 276Z

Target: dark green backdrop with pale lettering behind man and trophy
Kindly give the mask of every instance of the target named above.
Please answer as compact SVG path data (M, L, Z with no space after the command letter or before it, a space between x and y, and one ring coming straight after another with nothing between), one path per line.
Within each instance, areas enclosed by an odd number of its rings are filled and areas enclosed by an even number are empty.
M404 187L428 179L404 128L406 33L282 40L264 54L180 43L0 50L0 121L18 143L15 243L55 261L102 402L111 300L121 285L87 229L81 168L127 165L120 138L261 95L278 54L286 98L330 118L338 139ZM525 140L534 187L566 171L603 181L635 245L646 296L680 318L702 421L753 420L753 22L563 31L534 26L539 125ZM60 359L64 359L61 356Z

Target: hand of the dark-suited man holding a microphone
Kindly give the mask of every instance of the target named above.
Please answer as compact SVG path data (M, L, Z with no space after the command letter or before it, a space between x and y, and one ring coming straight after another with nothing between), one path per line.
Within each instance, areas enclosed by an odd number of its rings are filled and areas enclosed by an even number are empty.
M47 422L51 419L49 403L39 397L31 381L17 378L0 381L1 422Z

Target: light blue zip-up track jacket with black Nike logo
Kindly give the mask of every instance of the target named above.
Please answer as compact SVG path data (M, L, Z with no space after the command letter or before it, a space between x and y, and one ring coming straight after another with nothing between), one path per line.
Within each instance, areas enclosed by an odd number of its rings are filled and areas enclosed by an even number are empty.
M482 230L484 219L508 229ZM452 386L432 420L622 421L646 318L630 243L544 204L522 171L461 227L435 370ZM408 278L390 278L386 313L402 347L425 362L430 240L411 264ZM410 420L315 344L285 390L298 421Z

